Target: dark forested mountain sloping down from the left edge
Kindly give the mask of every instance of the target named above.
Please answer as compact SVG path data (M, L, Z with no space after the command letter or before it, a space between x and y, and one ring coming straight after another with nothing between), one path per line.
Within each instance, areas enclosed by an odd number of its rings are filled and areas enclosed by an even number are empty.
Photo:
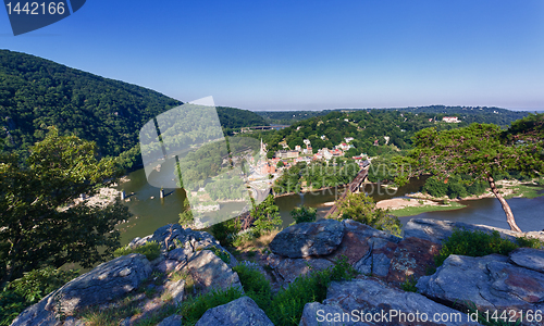
M182 102L136 85L103 78L34 55L0 50L0 138L8 151L26 152L48 126L94 140L102 155L131 150L141 126ZM218 108L225 131L267 125L259 115Z

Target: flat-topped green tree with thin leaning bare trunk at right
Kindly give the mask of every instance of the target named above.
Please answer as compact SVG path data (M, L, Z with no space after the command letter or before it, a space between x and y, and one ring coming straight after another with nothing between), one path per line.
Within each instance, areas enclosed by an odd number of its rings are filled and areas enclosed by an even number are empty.
M510 229L521 231L508 202L495 185L495 178L508 171L539 175L544 171L542 145L532 142L518 146L504 135L500 127L490 124L471 124L441 133L435 128L423 129L415 136L416 148L407 158L398 160L410 164L411 172L399 175L396 181L405 184L407 177L425 172L441 179L453 174L466 174L472 176L473 181L485 180L503 205Z

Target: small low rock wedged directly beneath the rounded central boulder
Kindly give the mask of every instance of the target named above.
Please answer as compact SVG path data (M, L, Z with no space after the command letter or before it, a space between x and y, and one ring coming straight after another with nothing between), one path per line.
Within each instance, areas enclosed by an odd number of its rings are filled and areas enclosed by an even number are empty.
M274 253L267 258L267 262L275 272L276 278L279 276L285 283L292 283L300 275L334 266L332 262L325 259L289 259Z

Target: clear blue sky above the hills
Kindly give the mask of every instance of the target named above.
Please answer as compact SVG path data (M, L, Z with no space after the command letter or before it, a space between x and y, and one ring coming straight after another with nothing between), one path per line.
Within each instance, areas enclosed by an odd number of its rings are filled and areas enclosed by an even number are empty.
M544 1L104 1L0 48L248 110L544 110Z

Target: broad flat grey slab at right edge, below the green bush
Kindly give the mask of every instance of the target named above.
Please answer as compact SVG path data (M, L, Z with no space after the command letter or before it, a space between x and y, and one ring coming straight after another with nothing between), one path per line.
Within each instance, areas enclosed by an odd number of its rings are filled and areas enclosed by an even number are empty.
M544 311L544 274L514 265L499 254L450 255L435 274L421 277L417 288L433 300L472 302L482 311Z

